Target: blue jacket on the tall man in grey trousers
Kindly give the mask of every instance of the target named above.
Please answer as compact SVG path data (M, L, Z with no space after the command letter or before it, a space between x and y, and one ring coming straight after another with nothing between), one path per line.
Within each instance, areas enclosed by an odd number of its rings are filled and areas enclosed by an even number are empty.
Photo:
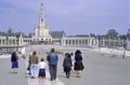
M55 53L50 53L47 56L47 60L49 61L49 65L57 65L58 57Z

